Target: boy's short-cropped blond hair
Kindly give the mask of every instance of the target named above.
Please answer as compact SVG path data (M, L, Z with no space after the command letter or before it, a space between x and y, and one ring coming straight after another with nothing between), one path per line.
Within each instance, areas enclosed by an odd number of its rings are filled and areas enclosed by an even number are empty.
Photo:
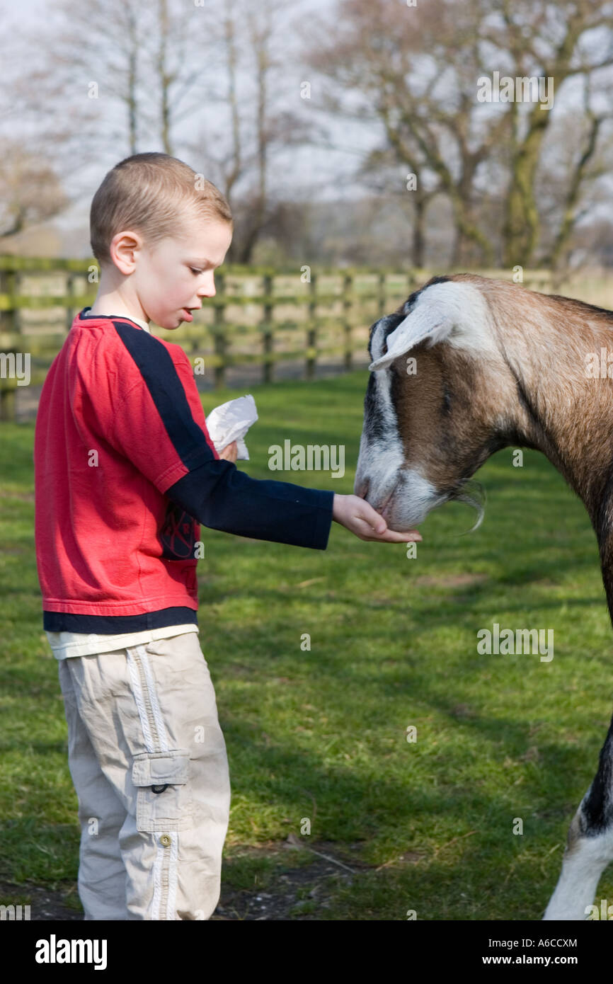
M134 229L148 245L176 234L191 214L232 223L221 192L202 174L169 154L133 154L110 170L92 199L90 237L98 263L110 264L109 246L117 232Z

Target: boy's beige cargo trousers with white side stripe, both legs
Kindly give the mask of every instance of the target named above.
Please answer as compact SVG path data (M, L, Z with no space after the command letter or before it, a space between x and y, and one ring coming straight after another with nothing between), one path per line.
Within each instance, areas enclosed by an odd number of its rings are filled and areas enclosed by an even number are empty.
M58 667L86 920L209 919L230 782L198 633Z

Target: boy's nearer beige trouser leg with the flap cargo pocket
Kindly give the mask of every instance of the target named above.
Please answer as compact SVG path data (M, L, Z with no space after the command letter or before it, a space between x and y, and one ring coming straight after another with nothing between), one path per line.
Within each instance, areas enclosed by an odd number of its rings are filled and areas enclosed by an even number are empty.
M229 819L225 742L196 633L70 660L100 769L126 810L128 919L209 919Z

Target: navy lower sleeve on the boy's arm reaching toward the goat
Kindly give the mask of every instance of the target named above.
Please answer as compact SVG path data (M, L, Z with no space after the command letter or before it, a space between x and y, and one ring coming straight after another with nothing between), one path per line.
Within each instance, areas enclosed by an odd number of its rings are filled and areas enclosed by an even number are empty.
M169 499L212 529L325 550L335 493L251 478L232 461L205 461L166 489Z

